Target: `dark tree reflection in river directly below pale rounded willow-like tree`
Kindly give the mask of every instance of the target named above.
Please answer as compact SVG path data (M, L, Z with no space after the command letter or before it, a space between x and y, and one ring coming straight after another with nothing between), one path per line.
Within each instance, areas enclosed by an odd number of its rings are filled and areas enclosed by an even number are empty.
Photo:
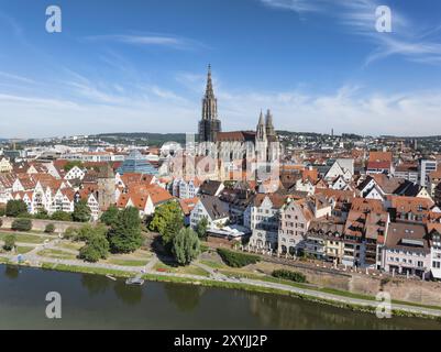
M164 284L164 290L169 301L180 311L191 311L199 306L199 300L206 292L205 287L184 285L184 284Z

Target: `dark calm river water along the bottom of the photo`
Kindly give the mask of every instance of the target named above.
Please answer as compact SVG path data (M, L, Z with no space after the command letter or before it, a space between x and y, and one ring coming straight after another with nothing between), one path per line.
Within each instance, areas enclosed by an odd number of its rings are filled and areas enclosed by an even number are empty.
M62 295L47 319L46 294ZM0 329L441 329L286 296L0 265Z

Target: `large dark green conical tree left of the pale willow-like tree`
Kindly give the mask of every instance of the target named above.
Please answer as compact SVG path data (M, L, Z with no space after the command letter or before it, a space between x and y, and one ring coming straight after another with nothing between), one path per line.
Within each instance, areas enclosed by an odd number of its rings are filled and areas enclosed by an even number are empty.
M130 253L137 250L143 243L140 211L134 207L120 211L108 233L108 239L113 253Z

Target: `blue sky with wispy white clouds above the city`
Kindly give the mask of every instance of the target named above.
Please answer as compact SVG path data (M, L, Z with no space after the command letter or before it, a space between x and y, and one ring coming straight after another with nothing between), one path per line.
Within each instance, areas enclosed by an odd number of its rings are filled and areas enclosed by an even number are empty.
M441 134L438 0L0 0L0 138L195 133L208 64L224 131Z

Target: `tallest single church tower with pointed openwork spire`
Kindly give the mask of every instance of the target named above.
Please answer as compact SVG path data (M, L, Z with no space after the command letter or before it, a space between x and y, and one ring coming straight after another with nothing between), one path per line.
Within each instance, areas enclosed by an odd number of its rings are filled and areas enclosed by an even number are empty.
M217 133L221 132L218 119L218 99L216 99L211 78L211 65L208 65L207 88L202 99L202 120L199 121L199 142L216 142Z

